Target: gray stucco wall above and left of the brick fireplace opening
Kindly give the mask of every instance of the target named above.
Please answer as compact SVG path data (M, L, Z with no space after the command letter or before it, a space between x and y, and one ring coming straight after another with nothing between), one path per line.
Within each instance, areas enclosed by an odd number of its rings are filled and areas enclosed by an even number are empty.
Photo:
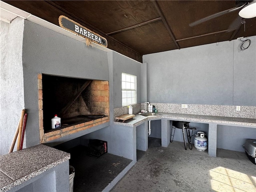
M109 80L106 52L25 20L24 103L28 110L27 147L39 144L38 74Z

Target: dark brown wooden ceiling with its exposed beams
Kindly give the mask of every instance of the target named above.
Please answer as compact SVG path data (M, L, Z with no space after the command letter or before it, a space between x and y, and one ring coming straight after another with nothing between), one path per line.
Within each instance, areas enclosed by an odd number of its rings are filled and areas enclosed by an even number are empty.
M256 35L256 18L238 23L238 11L189 24L236 7L234 0L4 1L59 26L60 15L108 40L108 48L142 62L142 56ZM232 29L230 29L232 28ZM230 29L230 30L229 30Z

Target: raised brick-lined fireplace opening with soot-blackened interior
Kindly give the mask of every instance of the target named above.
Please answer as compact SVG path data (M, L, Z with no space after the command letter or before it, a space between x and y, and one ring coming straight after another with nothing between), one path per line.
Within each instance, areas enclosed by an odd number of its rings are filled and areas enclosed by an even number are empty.
M109 121L109 84L38 74L40 143L55 140ZM57 114L61 127L51 128Z

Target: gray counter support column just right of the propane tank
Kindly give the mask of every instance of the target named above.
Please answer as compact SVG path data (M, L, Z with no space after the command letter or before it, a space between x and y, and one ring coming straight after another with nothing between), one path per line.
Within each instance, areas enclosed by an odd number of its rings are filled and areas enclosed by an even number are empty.
M209 123L208 155L216 157L217 150L217 124Z

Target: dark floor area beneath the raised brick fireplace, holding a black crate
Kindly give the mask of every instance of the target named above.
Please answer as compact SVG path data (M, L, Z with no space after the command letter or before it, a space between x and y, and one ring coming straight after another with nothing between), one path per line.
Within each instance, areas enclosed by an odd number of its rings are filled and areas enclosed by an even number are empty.
M100 192L104 190L132 162L120 156L106 153L100 158L88 155L88 148L76 146L68 152L70 165L74 167L74 192Z

